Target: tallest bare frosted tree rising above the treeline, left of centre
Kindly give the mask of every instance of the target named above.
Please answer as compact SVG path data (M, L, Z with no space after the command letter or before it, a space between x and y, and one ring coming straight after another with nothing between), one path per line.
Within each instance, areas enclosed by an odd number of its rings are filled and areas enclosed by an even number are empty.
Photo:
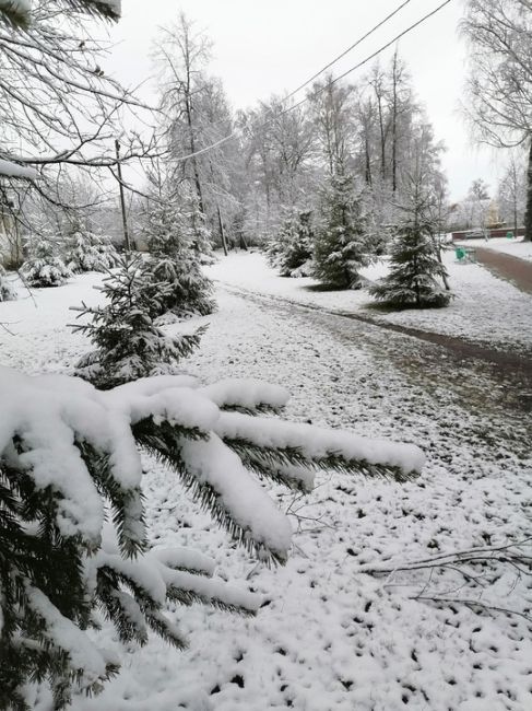
M212 43L184 13L163 31L155 57L162 71L167 160L177 185L192 195L194 229L218 232L226 249L239 203L233 196L233 116L222 82L208 73ZM187 190L184 190L184 195Z

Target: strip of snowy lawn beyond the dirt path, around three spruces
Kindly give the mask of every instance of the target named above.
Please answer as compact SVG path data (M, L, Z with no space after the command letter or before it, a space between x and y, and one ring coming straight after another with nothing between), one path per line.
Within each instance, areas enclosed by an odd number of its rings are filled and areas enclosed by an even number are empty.
M367 290L321 291L310 278L279 277L260 253L237 253L222 257L209 268L213 279L237 289L281 296L335 312L363 312L375 320L386 320L422 330L460 336L501 349L532 349L530 313L532 296L494 277L475 264L461 264L453 252L444 255L456 299L446 308L422 308L383 313L370 307ZM365 269L370 280L382 277L386 263Z

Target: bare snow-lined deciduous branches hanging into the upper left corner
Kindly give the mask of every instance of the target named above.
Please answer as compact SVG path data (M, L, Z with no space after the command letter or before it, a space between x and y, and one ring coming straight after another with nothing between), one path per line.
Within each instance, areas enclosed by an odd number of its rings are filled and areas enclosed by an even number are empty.
M75 207L62 193L69 166L99 184L103 171L117 178L115 139L128 112L152 119L149 107L106 75L106 43L92 36L97 25L87 14L117 19L119 7L118 0L37 0L0 24L0 187L4 207L16 207L10 220L17 225L29 219L26 194ZM17 32L13 25L21 24ZM122 136L120 162L153 155L152 136Z

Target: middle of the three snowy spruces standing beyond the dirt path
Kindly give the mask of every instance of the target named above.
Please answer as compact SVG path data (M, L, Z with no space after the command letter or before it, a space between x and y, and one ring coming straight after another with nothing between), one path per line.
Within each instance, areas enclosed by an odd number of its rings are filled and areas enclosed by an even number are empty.
M315 276L336 289L358 289L359 270L370 261L360 197L353 176L338 173L331 179L322 208L322 226L315 245Z

